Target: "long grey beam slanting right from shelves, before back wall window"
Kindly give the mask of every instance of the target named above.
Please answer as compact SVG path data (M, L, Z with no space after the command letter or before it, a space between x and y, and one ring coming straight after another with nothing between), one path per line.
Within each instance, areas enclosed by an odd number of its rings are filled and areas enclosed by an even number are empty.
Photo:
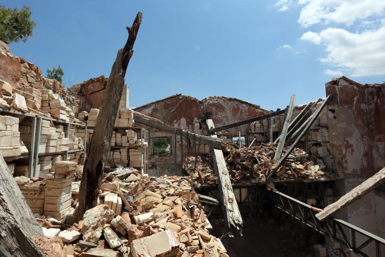
M147 126L149 125L149 122L150 122L149 119L144 118L142 116L139 116L136 112L134 112L134 119L138 123L141 123L141 124L144 124ZM166 124L158 123L158 122L154 122L154 121L151 122L151 127L156 128L156 129L160 129L162 131L166 131L168 133L175 133L175 129L176 129L178 131L178 133L182 137L185 137L185 138L188 138L189 135L190 135L190 138L192 138L192 135L194 134L194 133L190 133L188 131L183 131L182 129L179 129L179 128L174 128L174 127L168 126ZM196 137L201 138L200 140L201 140L202 144L208 144L209 146L213 146L216 149L222 148L222 142L223 141L220 138L212 138L209 136L198 135L198 134L196 134ZM182 142L182 140L181 140L181 142Z

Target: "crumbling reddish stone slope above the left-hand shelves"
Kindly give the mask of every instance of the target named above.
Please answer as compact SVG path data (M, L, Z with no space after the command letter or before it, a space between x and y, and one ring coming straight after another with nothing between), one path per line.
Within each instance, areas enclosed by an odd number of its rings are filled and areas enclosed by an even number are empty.
M51 89L60 94L67 106L76 113L79 99L67 94L64 84L55 79L42 76L42 71L32 62L27 62L23 57L13 55L7 44L0 41L0 79L12 85L13 88L34 87L36 89Z

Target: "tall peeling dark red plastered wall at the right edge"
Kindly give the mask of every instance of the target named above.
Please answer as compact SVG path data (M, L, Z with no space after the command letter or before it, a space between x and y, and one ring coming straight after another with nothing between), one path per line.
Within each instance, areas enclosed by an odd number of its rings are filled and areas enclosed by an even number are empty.
M326 83L326 95L335 94L338 103L329 104L330 152L345 173L341 195L385 166L385 84L362 85L346 77ZM385 237L384 193L373 190L343 208L338 216Z

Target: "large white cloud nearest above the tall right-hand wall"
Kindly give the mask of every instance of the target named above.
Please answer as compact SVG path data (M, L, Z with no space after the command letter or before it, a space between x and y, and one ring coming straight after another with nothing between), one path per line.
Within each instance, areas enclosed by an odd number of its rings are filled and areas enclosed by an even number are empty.
M351 76L385 74L385 26L360 34L328 28L319 35L327 52L321 62L346 69Z

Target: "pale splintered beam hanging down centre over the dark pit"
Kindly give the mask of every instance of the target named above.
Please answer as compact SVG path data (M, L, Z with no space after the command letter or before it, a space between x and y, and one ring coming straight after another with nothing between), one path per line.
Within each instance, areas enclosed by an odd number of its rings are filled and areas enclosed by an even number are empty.
M208 129L214 128L212 119L206 119ZM211 135L216 138L217 135ZM229 230L229 236L234 234L242 235L242 217L239 212L238 204L234 195L233 187L231 186L229 171L224 161L222 149L215 149L210 146L211 156L213 158L214 169L218 176L218 189L222 200L224 218Z

